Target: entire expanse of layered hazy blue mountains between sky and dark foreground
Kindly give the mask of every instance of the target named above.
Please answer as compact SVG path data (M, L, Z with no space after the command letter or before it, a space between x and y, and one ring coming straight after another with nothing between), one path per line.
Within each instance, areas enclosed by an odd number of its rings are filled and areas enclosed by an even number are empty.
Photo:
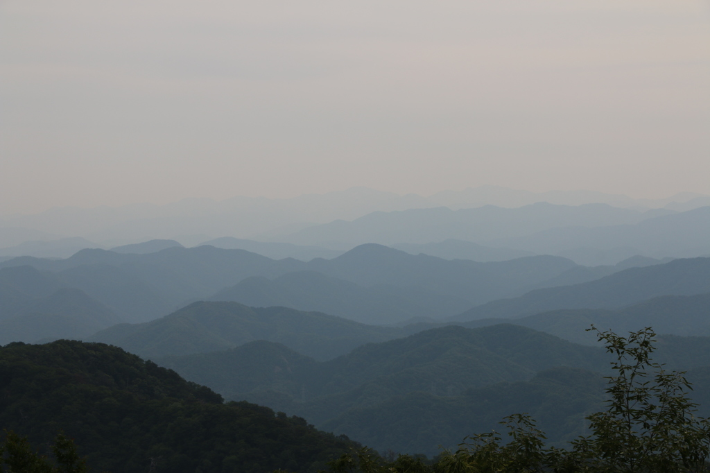
M537 197L359 189L13 217L27 226L0 228L16 243L0 345L113 345L228 401L427 455L518 411L553 442L583 434L609 374L591 325L655 327L657 360L710 388L704 197Z

